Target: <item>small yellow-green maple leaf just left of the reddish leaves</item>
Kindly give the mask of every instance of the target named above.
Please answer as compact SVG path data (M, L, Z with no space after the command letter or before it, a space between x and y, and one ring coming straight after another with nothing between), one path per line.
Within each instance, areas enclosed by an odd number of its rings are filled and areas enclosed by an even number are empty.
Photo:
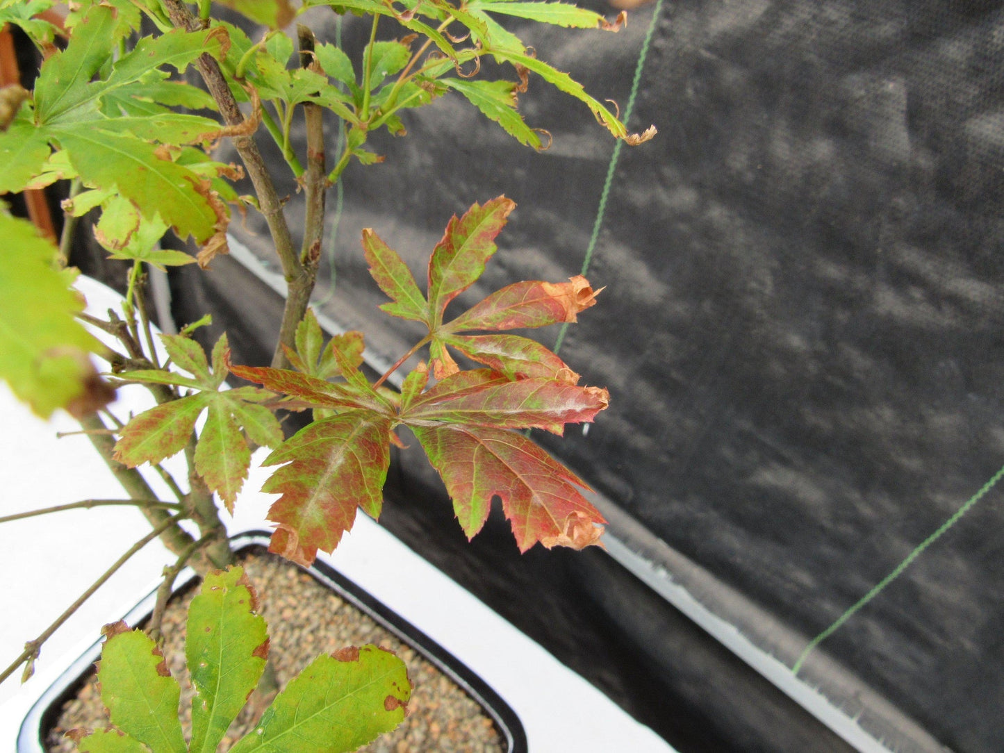
M199 417L208 410L195 449L195 467L233 512L251 465L251 451L241 429L259 445L275 447L282 442L278 421L269 409L260 405L271 396L250 387L220 390L228 372L226 334L213 347L212 370L197 342L181 335L161 335L161 339L175 364L192 376L165 370L137 370L119 374L119 379L174 385L196 392L134 417L115 443L114 457L135 467L159 463L181 452Z

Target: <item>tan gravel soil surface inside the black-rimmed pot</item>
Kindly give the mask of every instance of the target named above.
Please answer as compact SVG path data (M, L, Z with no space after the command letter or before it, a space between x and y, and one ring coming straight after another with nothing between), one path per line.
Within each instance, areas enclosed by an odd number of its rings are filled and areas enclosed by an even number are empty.
M295 677L321 653L346 646L373 644L390 649L408 665L415 689L408 704L409 715L396 730L359 750L372 753L406 751L458 751L501 753L505 743L481 706L411 647L317 583L310 575L285 560L269 554L241 557L248 577L258 592L261 614L268 622L272 660L279 686ZM197 592L190 588L176 596L165 612L164 653L171 674L182 686L181 718L189 734L193 690L185 668L185 617L188 603ZM229 749L250 731L257 716L250 707L231 725L221 750ZM103 727L107 717L91 677L80 693L68 701L56 726L47 737L47 749L60 753L73 750L64 737L73 728Z

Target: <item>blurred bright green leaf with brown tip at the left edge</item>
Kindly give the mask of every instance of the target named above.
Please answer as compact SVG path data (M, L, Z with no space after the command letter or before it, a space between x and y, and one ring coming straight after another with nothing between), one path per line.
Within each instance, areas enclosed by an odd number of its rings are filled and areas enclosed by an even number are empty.
M83 300L71 287L75 271L58 272L58 250L25 220L0 209L0 379L37 415L93 404L102 383L88 357L101 343L74 318Z

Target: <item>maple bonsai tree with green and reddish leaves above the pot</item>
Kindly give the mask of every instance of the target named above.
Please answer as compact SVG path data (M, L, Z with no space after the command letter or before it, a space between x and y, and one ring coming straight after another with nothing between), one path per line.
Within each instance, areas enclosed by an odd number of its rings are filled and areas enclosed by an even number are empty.
M554 352L508 332L574 321L593 305L596 291L583 277L515 282L446 318L448 304L496 252L513 202L498 197L453 217L432 249L425 290L398 253L364 231L363 253L390 299L382 308L426 331L374 382L361 370L362 333L325 339L309 302L328 189L350 161L382 159L366 149L368 135L403 133L408 108L459 94L519 142L544 149L546 132L528 126L516 109L517 93L535 74L581 100L615 138L633 145L651 138L654 129L629 134L603 104L497 20L517 16L615 30L623 14L608 22L570 4L518 0L305 0L295 8L288 0L219 3L263 27L252 38L216 18L217 6L208 0L195 8L180 0L81 0L71 4L62 28L39 18L51 5L0 0L0 26L20 26L45 53L33 91L0 90L0 193L70 182L58 246L0 211L7 239L0 255L0 376L38 415L66 409L79 419L128 498L76 506L124 503L143 510L153 528L131 551L160 537L178 555L163 598L185 564L204 574L231 564L217 505L233 509L255 445L272 448L264 465L275 470L263 491L280 495L269 511L275 524L270 548L300 564L312 562L318 549L331 551L356 508L380 515L400 427L424 448L469 537L500 497L521 550L537 542L581 548L598 541L603 520L582 496L585 485L521 430L561 434L567 423L591 421L606 407L607 393L579 386L578 374ZM358 59L300 25L299 55L291 64L294 42L283 29L319 6L369 19L370 38ZM403 35L378 40L382 21ZM66 40L62 49L55 45L59 37ZM486 55L510 66L513 80L478 77ZM190 67L204 86L175 75ZM325 157L332 139L324 133L324 110L338 123L333 167ZM305 124L301 155L290 140L295 117ZM298 248L259 138L275 141L302 189ZM220 140L233 144L241 165L213 159ZM253 194L239 193L245 176ZM263 215L288 283L272 362L231 362L226 335L207 356L191 337L198 322L161 335L165 358L147 314L145 269L208 266L227 251L234 208ZM70 289L73 272L65 268L74 219L87 212L98 215L93 233L110 256L132 262L121 311L107 319L83 312ZM198 252L161 248L169 231L191 238ZM116 346L100 344L81 321L108 332ZM423 348L426 359L404 376L400 391L389 389L388 379ZM104 373L90 354L107 362ZM462 367L455 354L474 366ZM230 374L254 386L226 389ZM129 421L114 416L107 404L127 384L146 386L158 405ZM279 410L311 410L314 420L284 439ZM205 423L196 431L201 417ZM187 485L164 467L178 454L188 463ZM158 498L138 466L165 479L174 498ZM186 532L182 520L193 521L198 533ZM22 665L30 673L57 626L29 642L0 680Z

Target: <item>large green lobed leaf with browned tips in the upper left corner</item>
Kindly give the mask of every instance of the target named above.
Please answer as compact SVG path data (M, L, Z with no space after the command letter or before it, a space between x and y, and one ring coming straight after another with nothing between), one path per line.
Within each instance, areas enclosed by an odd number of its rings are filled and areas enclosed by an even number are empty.
M85 186L114 189L144 217L160 217L183 238L209 240L226 226L225 205L203 176L174 162L163 145L206 141L220 126L172 112L173 105L204 105L207 98L194 86L164 80L161 69L183 72L201 54L219 57L224 30L144 37L107 67L114 47L109 39L121 29L118 10L101 3L81 12L66 49L42 64L32 119L20 118L0 134L0 190L25 188L55 146L67 153Z

